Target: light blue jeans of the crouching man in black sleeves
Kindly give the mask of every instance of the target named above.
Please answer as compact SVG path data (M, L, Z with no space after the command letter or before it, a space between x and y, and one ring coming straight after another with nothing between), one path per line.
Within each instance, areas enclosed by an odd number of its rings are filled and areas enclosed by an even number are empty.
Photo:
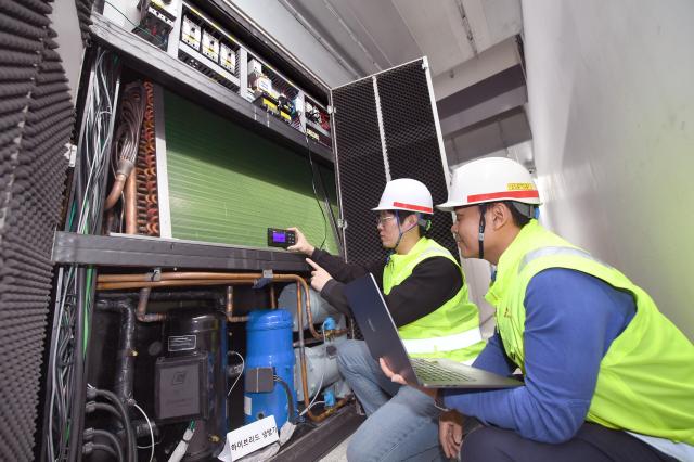
M390 382L363 341L340 344L337 364L368 415L349 441L347 460L446 460L438 442L440 411L429 396Z

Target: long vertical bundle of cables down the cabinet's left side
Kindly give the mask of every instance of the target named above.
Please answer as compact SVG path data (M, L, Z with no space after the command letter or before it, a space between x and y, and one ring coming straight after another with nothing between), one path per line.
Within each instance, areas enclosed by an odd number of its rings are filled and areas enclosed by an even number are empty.
M117 56L97 49L79 132L67 231L97 234L101 229L118 75ZM50 461L77 460L82 451L85 359L95 282L91 267L72 265L59 270L44 425L44 454Z

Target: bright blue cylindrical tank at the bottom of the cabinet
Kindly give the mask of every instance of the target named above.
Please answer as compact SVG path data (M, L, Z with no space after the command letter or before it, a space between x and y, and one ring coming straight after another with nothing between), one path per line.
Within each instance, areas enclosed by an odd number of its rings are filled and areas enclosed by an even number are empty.
M246 323L246 371L255 368L274 368L286 386L274 382L272 392L244 394L245 423L274 415L278 428L287 421L290 412L296 413L294 390L294 350L292 348L292 315L285 310L255 310ZM292 408L287 399L292 396Z

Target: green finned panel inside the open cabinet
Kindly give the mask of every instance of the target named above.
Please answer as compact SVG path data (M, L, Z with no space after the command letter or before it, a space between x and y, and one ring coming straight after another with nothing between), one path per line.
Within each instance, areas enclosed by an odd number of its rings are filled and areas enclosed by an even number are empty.
M174 238L265 247L268 227L296 226L313 245L325 241L337 252L305 153L170 92L164 106ZM321 167L321 177L335 209L333 170Z

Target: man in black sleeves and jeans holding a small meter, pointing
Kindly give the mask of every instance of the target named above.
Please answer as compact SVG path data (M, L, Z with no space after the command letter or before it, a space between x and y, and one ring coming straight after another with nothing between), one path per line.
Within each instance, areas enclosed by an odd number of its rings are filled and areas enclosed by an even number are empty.
M359 266L314 248L300 231L290 251L310 256L311 286L335 308L348 312L344 284L367 272L378 281L403 344L411 356L472 361L484 348L477 307L458 260L424 236L434 213L432 194L409 178L389 181L377 207L376 230L386 260ZM340 372L362 403L367 421L352 436L354 461L441 460L434 401L386 378L363 341L339 346Z

